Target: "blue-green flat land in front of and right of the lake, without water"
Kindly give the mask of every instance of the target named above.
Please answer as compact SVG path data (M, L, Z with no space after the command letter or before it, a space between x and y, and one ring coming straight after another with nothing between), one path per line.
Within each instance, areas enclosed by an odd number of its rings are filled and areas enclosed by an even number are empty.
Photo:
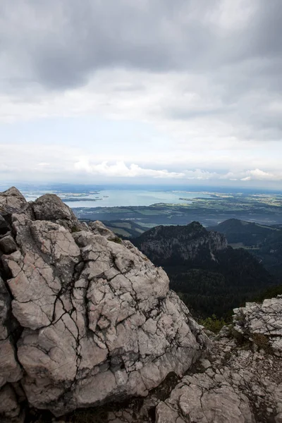
M79 219L104 221L116 233L130 237L153 226L185 225L191 221L200 221L204 226L213 226L226 219L265 225L282 224L282 195L273 192L209 192L209 198L194 197L184 204L157 203L139 207L91 207L73 210Z

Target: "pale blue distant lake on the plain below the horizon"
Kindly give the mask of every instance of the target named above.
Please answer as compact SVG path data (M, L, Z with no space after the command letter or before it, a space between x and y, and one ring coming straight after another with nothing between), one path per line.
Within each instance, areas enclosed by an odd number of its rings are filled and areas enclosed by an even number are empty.
M42 195L42 192L39 193ZM25 192L28 201L35 200L39 195L37 192ZM185 192L185 191L150 191L150 190L99 190L94 194L82 195L83 200L72 198L65 200L62 193L59 194L63 201L72 209L82 207L121 207L121 206L150 206L156 203L185 204L195 197L210 198L206 192ZM99 198L97 198L99 197ZM181 198L188 199L179 200ZM92 200L92 201L91 201ZM95 201L93 201L95 200Z

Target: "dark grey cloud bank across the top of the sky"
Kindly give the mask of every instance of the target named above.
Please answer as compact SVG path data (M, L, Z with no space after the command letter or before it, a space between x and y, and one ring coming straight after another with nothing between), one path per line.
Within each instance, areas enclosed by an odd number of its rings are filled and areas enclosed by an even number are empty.
M275 59L281 55L281 1L238 1L241 9L235 12L232 4L232 0L2 0L0 59L6 61L11 81L28 78L62 90L83 85L92 72L113 66L208 72L224 79L230 66L240 65L256 80L256 69L245 63L250 59L273 59L273 65L258 63L257 71L276 75L274 82L280 84L281 63ZM238 18L225 17L226 8ZM242 89L250 82L242 73L232 75Z

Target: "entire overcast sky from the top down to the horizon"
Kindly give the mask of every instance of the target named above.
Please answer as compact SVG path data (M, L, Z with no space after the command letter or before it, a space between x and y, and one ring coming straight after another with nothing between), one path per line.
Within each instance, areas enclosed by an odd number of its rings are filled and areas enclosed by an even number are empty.
M281 0L1 0L1 181L282 188Z

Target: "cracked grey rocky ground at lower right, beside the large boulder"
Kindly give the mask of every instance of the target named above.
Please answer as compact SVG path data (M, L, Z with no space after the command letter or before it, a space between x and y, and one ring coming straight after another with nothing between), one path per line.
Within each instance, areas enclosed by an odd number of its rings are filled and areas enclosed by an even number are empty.
M281 307L278 297L235 309L233 331L237 339L243 336L240 343L221 331L210 361L202 360L202 369L184 376L159 403L156 422L282 422L282 363L276 349Z

